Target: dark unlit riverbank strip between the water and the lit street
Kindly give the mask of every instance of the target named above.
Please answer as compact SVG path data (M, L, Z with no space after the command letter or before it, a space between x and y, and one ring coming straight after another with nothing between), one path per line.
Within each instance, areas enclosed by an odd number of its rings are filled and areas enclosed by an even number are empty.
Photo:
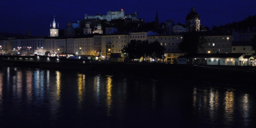
M132 77L146 77L172 83L172 81L188 81L195 83L234 85L254 87L256 69L237 67L205 67L194 65L162 64L162 63L56 63L7 61L5 66L69 69L89 73L123 75ZM232 67L235 68L235 67ZM250 71L251 70L251 71Z

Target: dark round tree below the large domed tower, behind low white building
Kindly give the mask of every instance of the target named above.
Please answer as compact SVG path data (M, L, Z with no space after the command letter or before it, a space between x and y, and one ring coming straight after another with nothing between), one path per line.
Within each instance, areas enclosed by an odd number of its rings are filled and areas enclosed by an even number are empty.
M182 42L178 45L179 50L183 53L197 53L198 48L202 48L202 44L206 43L202 33L192 31L183 34Z

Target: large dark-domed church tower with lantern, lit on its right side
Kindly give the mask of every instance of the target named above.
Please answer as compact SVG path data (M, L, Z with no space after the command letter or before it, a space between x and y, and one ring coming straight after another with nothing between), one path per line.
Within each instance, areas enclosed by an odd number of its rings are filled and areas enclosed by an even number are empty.
M200 30L200 16L198 13L195 12L195 8L191 8L191 12L186 17L186 25L189 31Z

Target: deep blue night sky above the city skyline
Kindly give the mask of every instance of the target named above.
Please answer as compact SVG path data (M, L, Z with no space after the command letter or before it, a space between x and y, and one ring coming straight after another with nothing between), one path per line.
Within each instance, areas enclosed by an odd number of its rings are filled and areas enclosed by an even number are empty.
M138 11L145 22L154 21L158 11L159 22L171 19L185 24L192 6L200 15L201 25L210 29L256 15L255 0L0 0L0 32L26 34L29 30L32 36L47 36L54 16L64 29L69 20L75 22L84 14L106 15L121 9L125 13Z

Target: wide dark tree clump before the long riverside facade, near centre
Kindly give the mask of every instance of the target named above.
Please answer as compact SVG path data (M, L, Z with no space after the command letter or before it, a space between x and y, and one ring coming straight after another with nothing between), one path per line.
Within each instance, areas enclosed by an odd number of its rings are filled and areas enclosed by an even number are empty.
M147 40L141 41L133 39L127 43L127 46L124 46L121 51L125 58L132 60L140 58L144 60L147 57L163 59L164 57L163 46L161 46L158 41L149 43Z

